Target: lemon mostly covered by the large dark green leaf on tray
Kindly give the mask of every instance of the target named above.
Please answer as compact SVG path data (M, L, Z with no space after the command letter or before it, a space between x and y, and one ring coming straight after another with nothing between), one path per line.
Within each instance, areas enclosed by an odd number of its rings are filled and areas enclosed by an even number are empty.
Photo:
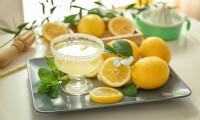
M128 40L128 39L121 39L121 40L124 40L124 41L127 41L132 49L133 49L133 57L134 57L134 61L133 63L135 63L136 61L138 61L139 57L140 57L140 50L138 48L138 46L135 44L135 42L131 41L131 40ZM112 44L115 42L115 40L112 40L108 43L108 45L110 45L112 47Z

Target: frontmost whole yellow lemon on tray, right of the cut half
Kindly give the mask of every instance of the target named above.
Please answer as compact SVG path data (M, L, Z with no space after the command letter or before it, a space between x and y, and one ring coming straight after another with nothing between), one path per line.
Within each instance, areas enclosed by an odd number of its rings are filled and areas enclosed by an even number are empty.
M142 58L132 66L132 80L139 88L159 88L168 77L168 64L159 57Z

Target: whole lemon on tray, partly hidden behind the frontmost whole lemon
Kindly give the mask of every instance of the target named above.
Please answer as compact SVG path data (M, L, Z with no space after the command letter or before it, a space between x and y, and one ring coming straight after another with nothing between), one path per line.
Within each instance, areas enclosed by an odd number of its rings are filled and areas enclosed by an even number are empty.
M171 53L169 47L164 40L158 37L146 38L140 46L140 54L142 57L157 56L170 62Z

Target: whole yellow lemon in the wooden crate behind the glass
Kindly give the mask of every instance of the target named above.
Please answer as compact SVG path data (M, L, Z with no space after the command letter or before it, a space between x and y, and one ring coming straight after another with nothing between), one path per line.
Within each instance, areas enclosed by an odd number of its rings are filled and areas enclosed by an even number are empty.
M105 24L103 19L98 15L89 14L84 16L78 23L77 31L100 37L105 31Z

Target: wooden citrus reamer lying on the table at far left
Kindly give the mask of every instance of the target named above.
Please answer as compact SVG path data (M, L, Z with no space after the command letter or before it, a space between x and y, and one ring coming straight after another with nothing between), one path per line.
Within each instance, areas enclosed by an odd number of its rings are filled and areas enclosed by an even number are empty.
M0 69L7 67L20 52L26 51L34 41L35 34L33 31L25 31L16 37L9 48L0 52Z

